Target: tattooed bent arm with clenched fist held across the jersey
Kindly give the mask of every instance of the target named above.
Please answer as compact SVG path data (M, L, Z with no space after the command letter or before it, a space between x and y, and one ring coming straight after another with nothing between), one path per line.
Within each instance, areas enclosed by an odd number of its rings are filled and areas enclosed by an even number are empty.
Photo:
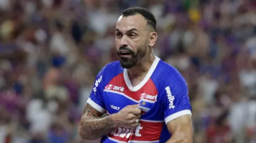
M104 116L87 103L80 119L79 135L83 139L95 140L118 127L134 128L139 125L139 118L141 118L141 110L137 107L138 104L128 105L118 113Z

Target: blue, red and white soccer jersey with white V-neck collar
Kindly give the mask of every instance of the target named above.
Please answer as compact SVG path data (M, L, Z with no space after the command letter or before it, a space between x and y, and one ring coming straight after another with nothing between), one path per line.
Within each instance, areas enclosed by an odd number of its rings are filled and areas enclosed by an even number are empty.
M191 114L187 83L178 70L158 57L136 86L132 86L127 69L119 61L107 64L97 75L87 103L108 114L140 103L139 126L119 127L101 142L166 142L171 137L166 124Z

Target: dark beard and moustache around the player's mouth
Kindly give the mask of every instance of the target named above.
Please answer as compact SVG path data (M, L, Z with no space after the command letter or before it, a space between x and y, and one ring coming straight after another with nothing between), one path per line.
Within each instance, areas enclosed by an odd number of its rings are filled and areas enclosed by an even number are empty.
M129 55L129 57L122 57L122 53L120 50L125 50L127 53L126 55ZM119 61L121 63L121 66L125 69L130 69L136 65L136 63L141 60L146 55L146 51L142 49L138 49L137 53L135 53L132 49L121 46L119 50L117 51Z

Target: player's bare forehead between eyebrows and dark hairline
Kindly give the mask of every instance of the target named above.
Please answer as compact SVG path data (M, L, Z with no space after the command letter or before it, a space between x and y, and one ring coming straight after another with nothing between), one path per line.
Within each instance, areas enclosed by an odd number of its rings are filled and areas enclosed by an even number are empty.
M142 15L134 15L123 17L120 16L116 28L120 31L127 31L130 29L144 30L146 28L147 21L144 19Z

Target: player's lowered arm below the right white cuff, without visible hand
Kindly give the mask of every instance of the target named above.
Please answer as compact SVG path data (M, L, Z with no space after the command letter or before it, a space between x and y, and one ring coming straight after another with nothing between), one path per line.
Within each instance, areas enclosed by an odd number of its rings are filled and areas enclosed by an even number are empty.
M171 138L166 143L192 143L193 127L191 115L183 115L167 123Z

